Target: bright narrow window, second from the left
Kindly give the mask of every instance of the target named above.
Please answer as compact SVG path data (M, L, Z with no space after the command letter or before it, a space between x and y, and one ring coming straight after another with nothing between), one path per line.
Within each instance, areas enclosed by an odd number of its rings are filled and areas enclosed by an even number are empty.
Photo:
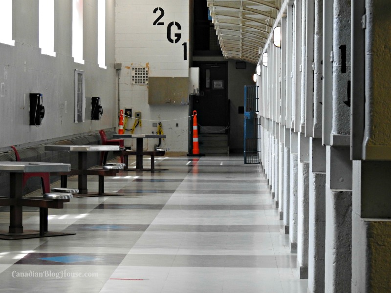
M54 52L54 1L40 0L40 48L41 53L56 56Z

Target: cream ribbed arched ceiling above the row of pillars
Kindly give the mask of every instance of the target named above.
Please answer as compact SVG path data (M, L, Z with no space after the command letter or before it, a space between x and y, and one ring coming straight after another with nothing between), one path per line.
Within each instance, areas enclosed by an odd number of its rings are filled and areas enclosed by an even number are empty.
M224 58L258 63L281 0L206 0Z

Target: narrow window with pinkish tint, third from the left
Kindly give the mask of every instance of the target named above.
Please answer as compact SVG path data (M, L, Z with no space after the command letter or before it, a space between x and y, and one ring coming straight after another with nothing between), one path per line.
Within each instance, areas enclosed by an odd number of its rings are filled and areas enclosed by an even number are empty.
M72 56L77 63L83 60L83 0L73 0L72 13Z

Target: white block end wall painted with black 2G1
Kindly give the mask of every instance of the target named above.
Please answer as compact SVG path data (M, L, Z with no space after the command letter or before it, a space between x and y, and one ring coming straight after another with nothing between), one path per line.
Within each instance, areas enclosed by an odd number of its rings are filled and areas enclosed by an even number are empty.
M133 117L136 111L141 112L142 126L135 128L135 134L156 133L153 123L162 122L167 139L161 147L183 153L188 150L188 105L149 105L148 85L132 84L131 75L132 67L146 67L150 77L189 76L189 15L188 0L116 0L115 60L122 63L120 109L131 108ZM173 22L179 23L180 30ZM180 40L170 42L175 34L181 35ZM187 44L186 60L183 43ZM132 128L134 121L128 119L127 129ZM144 140L143 147L152 150L157 142ZM133 140L125 144L135 147Z

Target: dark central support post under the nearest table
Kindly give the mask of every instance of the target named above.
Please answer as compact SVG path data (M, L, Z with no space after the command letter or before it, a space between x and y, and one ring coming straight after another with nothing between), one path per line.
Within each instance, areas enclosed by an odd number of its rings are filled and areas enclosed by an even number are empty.
M10 198L22 198L23 173L10 173ZM15 201L15 205L10 206L9 213L9 232L23 233L23 207Z

